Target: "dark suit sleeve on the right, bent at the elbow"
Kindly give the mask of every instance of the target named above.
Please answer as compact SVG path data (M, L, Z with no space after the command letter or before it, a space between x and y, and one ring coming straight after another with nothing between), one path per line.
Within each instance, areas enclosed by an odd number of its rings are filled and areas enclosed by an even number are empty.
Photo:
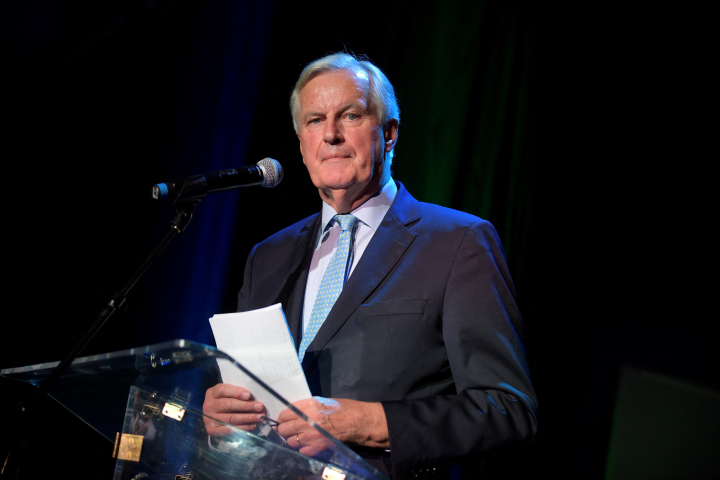
M537 429L515 288L484 220L458 247L442 315L457 394L383 402L394 478L525 443Z

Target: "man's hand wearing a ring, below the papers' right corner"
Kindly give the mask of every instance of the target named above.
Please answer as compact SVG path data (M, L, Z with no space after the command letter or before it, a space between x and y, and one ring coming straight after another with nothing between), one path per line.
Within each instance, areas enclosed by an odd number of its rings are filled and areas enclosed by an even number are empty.
M380 403L313 397L293 403L330 435L345 443L388 448L385 410ZM278 416L278 433L303 455L315 456L329 446L327 439L290 409Z

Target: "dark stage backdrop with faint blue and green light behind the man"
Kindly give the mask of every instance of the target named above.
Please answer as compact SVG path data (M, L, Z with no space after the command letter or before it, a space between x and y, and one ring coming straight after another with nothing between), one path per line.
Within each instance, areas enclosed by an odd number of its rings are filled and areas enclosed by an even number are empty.
M251 246L320 207L287 99L347 49L396 87L395 178L505 244L540 431L486 476L602 477L620 365L720 387L698 5L4 2L0 367L59 359L122 286L173 216L151 185L270 156L283 183L204 200L85 354L213 344Z

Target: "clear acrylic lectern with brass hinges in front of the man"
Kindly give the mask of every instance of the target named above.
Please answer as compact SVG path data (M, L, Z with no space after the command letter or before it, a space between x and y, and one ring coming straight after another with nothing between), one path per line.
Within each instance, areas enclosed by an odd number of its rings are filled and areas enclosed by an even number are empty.
M228 435L209 437L202 403L219 382L217 359L244 369L216 348L187 340L82 357L49 395L114 444L115 480L386 480L312 421L323 436L315 457L285 445L269 426L254 433L228 426ZM40 386L57 363L0 375Z

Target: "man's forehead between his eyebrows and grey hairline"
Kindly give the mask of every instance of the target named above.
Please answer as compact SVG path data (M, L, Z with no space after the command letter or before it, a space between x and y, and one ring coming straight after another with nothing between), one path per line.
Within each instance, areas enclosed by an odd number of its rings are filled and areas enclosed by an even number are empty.
M362 70L323 72L314 76L300 91L300 108L306 110L335 103L366 103L370 83Z

